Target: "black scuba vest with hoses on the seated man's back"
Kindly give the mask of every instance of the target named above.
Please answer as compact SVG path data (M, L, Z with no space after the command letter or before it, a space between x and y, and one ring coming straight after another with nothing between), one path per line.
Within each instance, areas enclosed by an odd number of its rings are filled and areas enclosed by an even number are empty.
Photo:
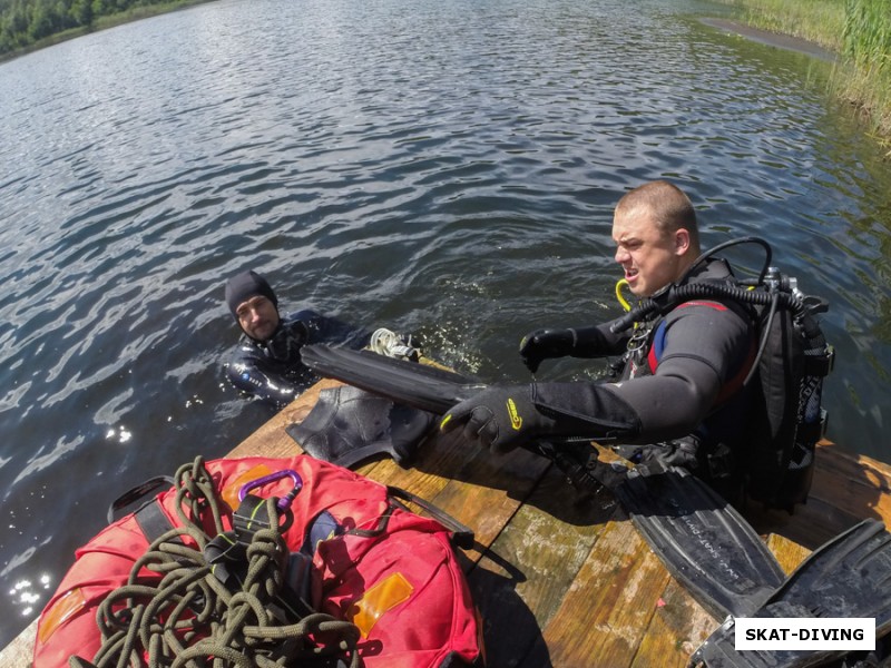
M746 495L770 508L792 512L804 503L813 477L816 442L825 433L823 379L832 370L834 351L826 343L816 315L828 303L802 293L797 281L772 266L772 249L756 237L721 244L699 257L687 274L719 250L738 244L757 244L765 262L754 282L697 282L672 284L643 299L613 325L614 332L635 322L664 315L693 299L735 299L753 314L757 353L743 381L753 385L745 451L741 465Z

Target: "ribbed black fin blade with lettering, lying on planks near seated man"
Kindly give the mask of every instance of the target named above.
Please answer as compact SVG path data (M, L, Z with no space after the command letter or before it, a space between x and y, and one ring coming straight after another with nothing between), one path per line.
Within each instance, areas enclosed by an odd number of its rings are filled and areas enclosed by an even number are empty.
M782 584L783 570L755 530L684 469L633 469L613 491L668 572L712 616L748 616Z

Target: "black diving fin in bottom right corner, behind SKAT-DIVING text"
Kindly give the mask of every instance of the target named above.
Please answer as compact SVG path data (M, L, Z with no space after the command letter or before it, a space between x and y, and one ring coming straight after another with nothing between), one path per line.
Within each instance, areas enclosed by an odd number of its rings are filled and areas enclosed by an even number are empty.
M863 520L817 548L750 617L874 618L877 649L887 655L891 632L891 534ZM691 665L707 668L803 668L880 665L888 656L859 657L844 650L737 651L733 619L696 650ZM874 654L874 652L873 652ZM862 664L855 661L862 660ZM881 665L885 665L882 662Z

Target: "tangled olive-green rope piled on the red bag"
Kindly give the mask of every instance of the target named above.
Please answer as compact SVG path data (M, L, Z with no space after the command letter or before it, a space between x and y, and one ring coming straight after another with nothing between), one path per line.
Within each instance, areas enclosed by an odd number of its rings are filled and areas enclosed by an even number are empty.
M204 460L198 456L180 466L175 480L184 525L155 540L134 563L127 583L99 606L96 621L102 645L92 662L71 657L69 666L274 668L339 656L349 657L350 668L360 668L354 625L321 612L301 619L281 600L290 551L275 500L266 500L274 525L253 534L244 581L229 591L204 556L212 538L203 523L213 523L217 534L225 530ZM146 569L160 574L160 581L146 583L139 577ZM326 644L319 646L321 637Z

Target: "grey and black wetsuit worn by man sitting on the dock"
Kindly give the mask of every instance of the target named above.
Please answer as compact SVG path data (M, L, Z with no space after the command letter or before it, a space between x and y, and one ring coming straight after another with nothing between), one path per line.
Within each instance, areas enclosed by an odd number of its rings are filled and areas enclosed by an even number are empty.
M730 267L717 259L687 282L698 281L735 282ZM730 474L735 469L734 453L743 444L748 414L750 393L742 382L755 355L754 322L747 310L732 299L701 299L640 323L633 332L614 334L611 324L576 330L571 354L623 354L625 364L618 380L606 385L574 383L576 395L569 403L581 409L587 393L594 397L606 387L639 420L634 433L617 433L614 442L660 443L665 451L677 445L673 441L686 439L693 443L697 463L672 463L688 464L706 479ZM555 402L559 404L566 402Z

